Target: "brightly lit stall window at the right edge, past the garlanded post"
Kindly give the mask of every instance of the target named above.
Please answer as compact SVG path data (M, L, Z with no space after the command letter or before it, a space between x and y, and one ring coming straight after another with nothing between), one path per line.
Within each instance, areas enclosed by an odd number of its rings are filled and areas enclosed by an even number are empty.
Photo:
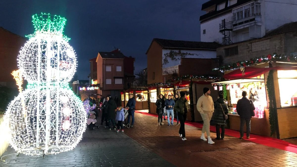
M278 70L281 107L297 106L297 70Z

